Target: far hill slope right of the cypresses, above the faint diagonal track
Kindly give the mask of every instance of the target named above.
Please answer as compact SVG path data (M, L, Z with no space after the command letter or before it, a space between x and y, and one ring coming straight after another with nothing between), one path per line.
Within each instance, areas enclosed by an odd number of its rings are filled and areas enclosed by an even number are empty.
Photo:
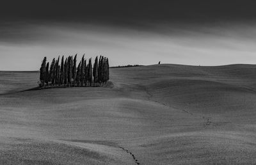
M232 115L230 119L238 122L243 112L243 116L254 121L255 65L152 65L132 70L120 68L113 70L112 79L118 82L117 86L132 83L132 88L141 87L151 100L190 113L227 118Z

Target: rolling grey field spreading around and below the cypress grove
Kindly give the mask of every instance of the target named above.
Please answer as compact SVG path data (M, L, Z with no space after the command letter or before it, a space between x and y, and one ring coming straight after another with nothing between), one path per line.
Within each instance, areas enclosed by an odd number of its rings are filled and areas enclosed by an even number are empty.
M256 162L255 65L151 65L110 74L107 88L19 93L6 92L23 90L38 72L26 72L27 81L1 77L1 86L20 84L1 91L0 164Z

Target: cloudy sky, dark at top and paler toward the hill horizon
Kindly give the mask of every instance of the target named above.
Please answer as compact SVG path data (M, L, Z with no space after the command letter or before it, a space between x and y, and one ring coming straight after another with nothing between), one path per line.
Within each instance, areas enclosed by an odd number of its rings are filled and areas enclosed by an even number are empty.
M1 1L0 70L44 56L106 56L110 66L256 63L256 2Z

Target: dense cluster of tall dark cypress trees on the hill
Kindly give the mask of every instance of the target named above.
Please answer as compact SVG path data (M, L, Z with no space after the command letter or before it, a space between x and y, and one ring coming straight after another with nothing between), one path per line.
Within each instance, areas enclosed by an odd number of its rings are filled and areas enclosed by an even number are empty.
M40 86L92 86L92 84L102 85L109 80L108 58L100 56L95 58L92 66L92 58L83 58L77 66L76 56L64 56L52 59L51 65L47 63L45 57L40 68Z

